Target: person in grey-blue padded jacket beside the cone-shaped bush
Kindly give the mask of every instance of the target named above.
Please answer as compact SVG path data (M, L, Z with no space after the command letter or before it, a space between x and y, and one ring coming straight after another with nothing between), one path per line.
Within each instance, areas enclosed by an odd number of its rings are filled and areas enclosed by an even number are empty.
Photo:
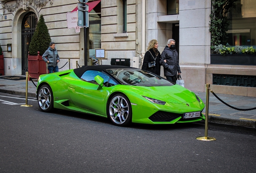
M60 62L60 57L55 48L55 43L50 42L49 48L44 52L42 56L43 60L48 64L49 73L58 72L58 62Z

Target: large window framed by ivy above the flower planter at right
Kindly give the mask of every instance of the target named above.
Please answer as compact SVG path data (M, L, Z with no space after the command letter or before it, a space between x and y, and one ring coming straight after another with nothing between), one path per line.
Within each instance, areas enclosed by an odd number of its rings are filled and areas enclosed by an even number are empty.
M252 0L237 0L235 8L227 14L229 20L228 44L230 46L256 47L256 3Z

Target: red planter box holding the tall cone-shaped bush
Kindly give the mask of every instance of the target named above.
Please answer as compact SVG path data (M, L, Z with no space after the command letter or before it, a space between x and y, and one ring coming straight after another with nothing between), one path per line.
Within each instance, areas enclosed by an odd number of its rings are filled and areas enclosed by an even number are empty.
M41 74L48 73L47 64L39 52L36 56L28 55L28 72L31 78L39 78Z

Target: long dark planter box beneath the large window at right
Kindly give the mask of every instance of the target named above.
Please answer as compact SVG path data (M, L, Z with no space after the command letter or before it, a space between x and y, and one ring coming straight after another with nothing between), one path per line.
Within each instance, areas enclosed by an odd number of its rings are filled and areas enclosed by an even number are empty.
M211 64L256 66L256 55L232 54L223 56L221 54L211 54Z

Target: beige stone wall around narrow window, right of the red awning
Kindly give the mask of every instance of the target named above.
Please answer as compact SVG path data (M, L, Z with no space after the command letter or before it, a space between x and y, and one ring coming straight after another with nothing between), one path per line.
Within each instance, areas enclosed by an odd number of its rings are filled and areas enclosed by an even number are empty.
M136 0L127 0L127 33L123 33L122 0L101 0L101 48L105 48L107 58L103 64L110 64L111 58L130 58L132 62L136 56L136 47L141 46L139 41L136 45L141 33L138 6Z

